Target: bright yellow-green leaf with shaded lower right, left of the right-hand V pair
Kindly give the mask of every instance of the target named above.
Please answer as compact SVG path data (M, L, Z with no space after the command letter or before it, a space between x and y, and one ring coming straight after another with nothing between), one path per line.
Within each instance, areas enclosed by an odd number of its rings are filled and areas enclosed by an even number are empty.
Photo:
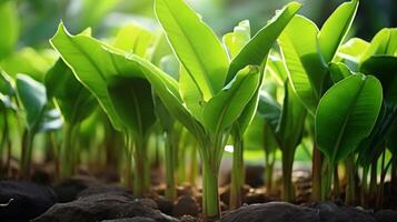
M288 78L311 114L316 112L327 75L327 67L318 51L317 34L315 23L295 16L279 38Z

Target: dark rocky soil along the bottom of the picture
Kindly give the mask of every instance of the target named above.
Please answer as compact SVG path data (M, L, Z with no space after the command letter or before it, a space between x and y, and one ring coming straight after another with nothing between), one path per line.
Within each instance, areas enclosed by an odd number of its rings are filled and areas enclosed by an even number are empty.
M251 174L259 173L255 172ZM33 173L36 182L52 184L49 175ZM40 176L39 176L40 175ZM229 185L220 186L222 218L219 222L397 222L395 192L385 192L384 210L374 212L341 202L310 203L310 180L305 173L295 176L296 204L278 202L279 192L268 193L259 179L244 186L244 205L228 211ZM40 179L40 180L38 180ZM106 181L106 182L103 182ZM189 184L177 188L178 199L163 196L165 185L152 189L147 198L109 180L80 175L52 186L14 180L0 181L1 222L201 222L200 190ZM257 188L252 188L252 185ZM389 185L389 184L386 184ZM278 189L279 190L279 189ZM12 199L12 201L10 201Z

